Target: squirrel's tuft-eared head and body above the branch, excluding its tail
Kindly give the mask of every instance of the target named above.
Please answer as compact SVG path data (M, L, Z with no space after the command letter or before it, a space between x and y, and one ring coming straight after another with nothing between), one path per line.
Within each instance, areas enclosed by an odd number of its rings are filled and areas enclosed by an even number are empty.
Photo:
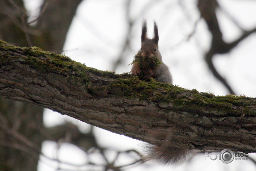
M141 49L137 52L138 56L143 59L141 62L134 62L132 64L131 73L135 76L140 76L143 79L149 80L151 77L158 82L172 84L172 75L162 61L162 56L158 50L158 26L154 21L154 37L149 39L147 36L148 27L146 20L142 21L141 31ZM136 55L135 55L136 58ZM160 62L159 65L155 65L155 58Z

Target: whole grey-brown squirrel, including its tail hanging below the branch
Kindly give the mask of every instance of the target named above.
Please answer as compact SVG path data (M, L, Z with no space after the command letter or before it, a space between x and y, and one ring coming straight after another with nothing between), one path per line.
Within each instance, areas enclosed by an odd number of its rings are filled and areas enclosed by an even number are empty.
M142 57L139 62L132 64L131 73L135 76L142 76L144 79L154 78L158 82L172 84L172 75L162 61L162 56L158 50L158 26L154 21L154 37L149 39L147 37L147 23L145 20L142 21L141 31L141 49L137 52L137 56ZM151 60L156 57L160 61L160 65L155 65L155 61ZM136 55L135 55L136 58ZM170 137L172 137L172 131L170 131ZM169 146L166 142L155 146L155 145L143 145L144 153L143 157L145 160L157 161L164 165L175 165L181 162L191 159L199 150L188 150L182 147Z

